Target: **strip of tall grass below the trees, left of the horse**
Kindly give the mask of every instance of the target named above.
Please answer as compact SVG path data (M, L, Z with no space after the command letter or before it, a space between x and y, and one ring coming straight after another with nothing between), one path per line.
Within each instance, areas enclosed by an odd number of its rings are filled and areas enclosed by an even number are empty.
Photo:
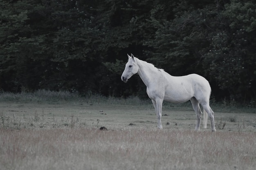
M34 92L0 93L0 102L30 102L30 103L63 103L63 102L85 102L88 104L128 104L141 105L151 104L149 99L140 99L137 96L128 98L106 97L100 94L88 93L81 96L79 93L69 91L38 90Z

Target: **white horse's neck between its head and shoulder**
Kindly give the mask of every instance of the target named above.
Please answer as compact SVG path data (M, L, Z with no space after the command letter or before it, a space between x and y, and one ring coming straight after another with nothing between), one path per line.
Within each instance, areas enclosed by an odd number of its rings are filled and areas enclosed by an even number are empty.
M150 82L153 82L154 73L157 71L157 68L153 66L153 64L144 62L142 60L137 59L137 65L139 66L138 75L144 82L146 86L150 84Z

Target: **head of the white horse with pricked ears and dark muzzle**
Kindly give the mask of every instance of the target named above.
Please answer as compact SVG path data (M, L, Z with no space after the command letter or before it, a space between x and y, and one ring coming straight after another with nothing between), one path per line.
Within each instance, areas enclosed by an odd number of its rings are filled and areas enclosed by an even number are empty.
M123 74L121 75L121 80L126 83L128 79L132 77L132 75L135 75L138 71L139 66L137 65L135 57L132 54L131 56L128 55L128 62L126 63Z

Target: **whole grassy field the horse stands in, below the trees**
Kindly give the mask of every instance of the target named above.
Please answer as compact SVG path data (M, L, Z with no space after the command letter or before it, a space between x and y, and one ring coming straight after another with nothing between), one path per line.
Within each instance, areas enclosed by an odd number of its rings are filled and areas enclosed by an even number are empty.
M210 121L207 129L194 132L196 118L189 103L165 104L164 129L158 130L150 101L65 94L48 98L0 95L1 170L256 167L256 114L252 108L221 111L222 106L213 106L217 132L211 132ZM101 127L108 130L99 130Z

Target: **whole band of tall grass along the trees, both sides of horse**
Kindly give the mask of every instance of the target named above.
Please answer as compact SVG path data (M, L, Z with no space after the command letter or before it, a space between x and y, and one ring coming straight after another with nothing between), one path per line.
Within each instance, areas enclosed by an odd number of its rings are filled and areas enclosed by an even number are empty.
M100 94L87 93L86 95L80 95L79 93L72 93L69 91L49 91L38 90L34 92L21 92L21 93L9 93L0 92L0 102L27 102L27 103L47 103L47 104L63 104L67 102L73 103L86 103L86 104L119 104L119 105L133 105L146 107L153 107L151 100L141 99L137 96L130 96L127 98L122 97L106 97ZM246 112L256 113L255 107L240 106L238 104L229 105L227 102L214 102L210 101L210 105L213 111L217 112ZM193 110L190 102L182 104L173 104L170 102L163 102L163 107L167 108L183 108L185 110Z

